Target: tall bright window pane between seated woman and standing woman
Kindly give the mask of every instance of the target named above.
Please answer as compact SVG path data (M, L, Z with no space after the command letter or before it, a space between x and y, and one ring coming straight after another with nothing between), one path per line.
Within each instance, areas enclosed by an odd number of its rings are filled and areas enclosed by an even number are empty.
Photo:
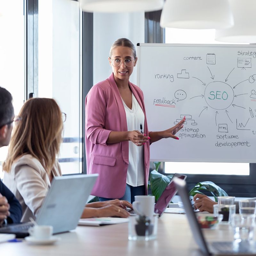
M63 174L82 172L80 9L70 0L38 1L38 97L67 114L59 162Z

